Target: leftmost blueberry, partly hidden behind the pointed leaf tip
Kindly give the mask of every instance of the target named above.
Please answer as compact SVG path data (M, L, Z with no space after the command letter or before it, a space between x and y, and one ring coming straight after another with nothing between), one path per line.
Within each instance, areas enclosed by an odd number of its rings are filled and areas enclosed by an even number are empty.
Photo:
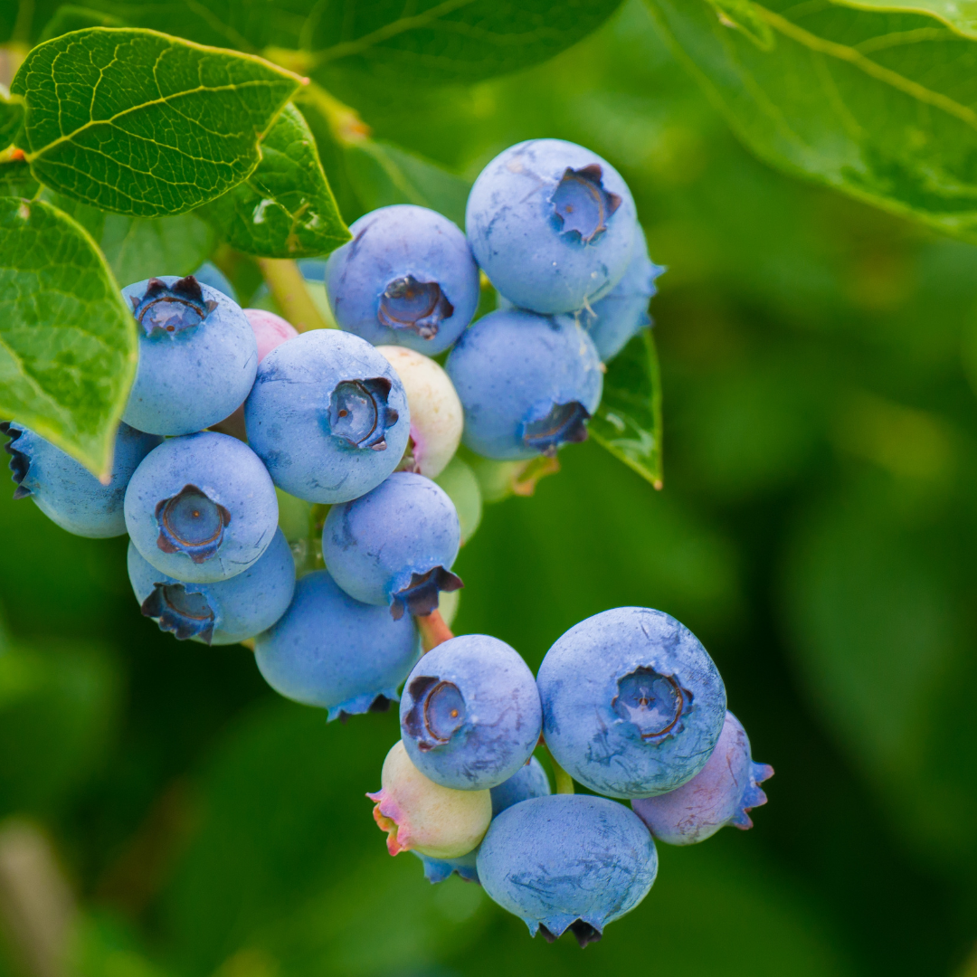
M122 500L140 462L161 438L119 424L112 473L104 486L87 468L16 421L0 424L17 483L14 498L31 498L63 530L102 539L125 533Z

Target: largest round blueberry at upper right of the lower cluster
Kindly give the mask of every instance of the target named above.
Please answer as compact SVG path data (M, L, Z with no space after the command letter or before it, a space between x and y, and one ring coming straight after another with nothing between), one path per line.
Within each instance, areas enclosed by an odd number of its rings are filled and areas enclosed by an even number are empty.
M543 736L574 780L609 797L652 797L705 766L726 689L674 617L616 608L557 639L537 676Z

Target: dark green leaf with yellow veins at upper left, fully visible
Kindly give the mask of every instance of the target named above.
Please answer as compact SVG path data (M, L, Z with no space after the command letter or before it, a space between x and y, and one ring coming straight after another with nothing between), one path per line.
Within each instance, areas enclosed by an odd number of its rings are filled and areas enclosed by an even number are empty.
M182 214L258 165L299 79L259 58L93 27L34 48L12 91L43 184L134 217Z

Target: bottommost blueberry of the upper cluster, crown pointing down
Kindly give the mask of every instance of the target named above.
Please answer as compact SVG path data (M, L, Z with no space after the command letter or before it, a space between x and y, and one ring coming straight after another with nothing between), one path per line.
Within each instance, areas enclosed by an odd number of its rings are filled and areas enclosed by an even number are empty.
M413 618L361 604L324 570L307 573L274 627L259 635L255 660L286 699L355 715L397 701L420 654Z

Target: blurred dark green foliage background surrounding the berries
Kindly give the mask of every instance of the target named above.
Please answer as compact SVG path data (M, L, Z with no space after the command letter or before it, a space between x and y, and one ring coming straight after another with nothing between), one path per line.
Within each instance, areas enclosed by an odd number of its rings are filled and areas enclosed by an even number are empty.
M628 180L669 268L665 487L564 451L534 496L487 507L455 630L535 668L584 616L679 617L777 770L770 803L748 833L660 846L602 943L531 940L476 886L386 854L363 793L396 716L327 726L245 649L161 634L124 540L4 490L0 815L49 832L98 934L88 973L977 973L977 248L757 162L636 0L500 80L331 87L468 178L554 136Z

